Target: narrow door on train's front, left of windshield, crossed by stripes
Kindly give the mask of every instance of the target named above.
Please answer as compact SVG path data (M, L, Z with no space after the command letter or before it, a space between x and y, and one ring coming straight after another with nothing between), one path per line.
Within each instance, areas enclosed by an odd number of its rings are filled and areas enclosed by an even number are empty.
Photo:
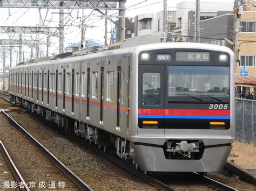
M138 135L164 136L165 66L139 65L138 77Z

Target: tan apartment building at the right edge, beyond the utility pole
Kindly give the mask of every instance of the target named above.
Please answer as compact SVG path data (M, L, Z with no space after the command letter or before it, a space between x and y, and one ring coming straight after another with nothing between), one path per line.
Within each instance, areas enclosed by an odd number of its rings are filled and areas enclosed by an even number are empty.
M256 1L243 4L238 22L235 85L237 92L254 92L256 98Z

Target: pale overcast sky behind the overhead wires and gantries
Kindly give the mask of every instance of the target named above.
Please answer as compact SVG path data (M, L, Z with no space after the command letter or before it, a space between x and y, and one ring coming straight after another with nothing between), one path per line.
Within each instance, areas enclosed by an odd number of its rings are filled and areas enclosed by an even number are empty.
M195 2L196 0L167 0L167 10L176 10L176 5L180 2ZM201 2L233 2L233 0L201 0ZM142 13L153 13L163 10L163 0L126 0L126 17L134 17ZM188 8L190 9L190 8ZM45 17L47 12L46 9L42 9L42 16ZM59 10L58 9L49 9L49 12L45 19L45 26L58 27L59 24ZM64 10L64 47L69 46L70 43L77 43L80 41L80 32L79 25L82 18L82 10ZM105 12L103 10L103 12ZM69 13L69 14L67 14ZM89 16L90 15L90 16ZM118 15L118 10L109 10L108 15ZM19 9L19 8L1 8L0 9L0 26L36 26L40 25L39 22L39 11L38 9ZM97 40L99 43L104 44L104 23L105 19L100 18L100 13L93 10L84 10L84 16L87 17L85 20L86 25L93 25L92 29L86 29L85 38ZM42 24L41 24L42 25ZM109 42L110 40L110 31L114 26L111 22L108 22L107 37ZM13 34L11 34L13 36ZM36 35L25 34L23 36L25 39L35 39ZM0 34L0 39L9 39L7 34ZM18 39L18 34L15 35L14 39ZM40 35L39 39L43 43L41 45L41 55L46 54L46 36ZM55 54L58 53L59 39L52 37L50 40L51 47L49 48L49 53ZM30 59L30 48L27 46L23 47L24 59ZM1 51L0 51L1 52ZM15 49L13 53L12 63L17 61L17 52L18 48ZM35 55L35 53L34 53ZM0 54L0 68L2 68L2 56ZM6 65L9 65L9 54L6 54Z

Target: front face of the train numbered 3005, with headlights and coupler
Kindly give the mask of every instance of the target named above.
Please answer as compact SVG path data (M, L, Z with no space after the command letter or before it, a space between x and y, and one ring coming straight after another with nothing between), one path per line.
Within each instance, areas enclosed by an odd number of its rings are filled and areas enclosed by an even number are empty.
M131 140L140 169L220 171L234 142L231 49L166 43L136 52L138 131Z

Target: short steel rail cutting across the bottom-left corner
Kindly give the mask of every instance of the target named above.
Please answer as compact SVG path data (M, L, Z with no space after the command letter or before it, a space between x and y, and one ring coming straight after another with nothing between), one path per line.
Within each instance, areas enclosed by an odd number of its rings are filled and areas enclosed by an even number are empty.
M27 191L29 191L30 189L29 189L28 185L27 185L26 182L24 181L24 179L23 179L21 173L19 173L18 168L15 166L14 161L12 161L12 159L11 159L11 157L10 157L8 151L6 150L4 144L3 144L3 142L2 142L1 140L0 140L0 152L3 154L3 158L4 158L4 161L5 161L6 165L7 165L8 167L11 167L11 168L12 168L12 171L11 171L11 172L14 173L15 178L16 178L19 182L23 182L23 183L24 183L24 189L27 190Z

